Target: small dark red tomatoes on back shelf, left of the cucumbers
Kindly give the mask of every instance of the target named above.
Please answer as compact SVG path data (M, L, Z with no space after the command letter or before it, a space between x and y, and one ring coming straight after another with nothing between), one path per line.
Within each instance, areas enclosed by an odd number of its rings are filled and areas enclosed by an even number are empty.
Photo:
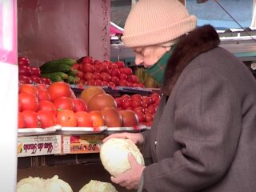
M39 67L30 66L28 58L18 57L18 82L49 85L51 80L50 78L42 77Z

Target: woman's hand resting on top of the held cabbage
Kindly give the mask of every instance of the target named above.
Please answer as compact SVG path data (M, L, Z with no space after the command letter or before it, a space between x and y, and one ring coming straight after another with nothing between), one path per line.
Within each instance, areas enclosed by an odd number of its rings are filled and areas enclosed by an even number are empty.
M110 138L129 138L135 145L143 145L144 138L142 134L134 134L134 133L119 133L119 134L110 134L108 137L104 138L102 142L106 142Z

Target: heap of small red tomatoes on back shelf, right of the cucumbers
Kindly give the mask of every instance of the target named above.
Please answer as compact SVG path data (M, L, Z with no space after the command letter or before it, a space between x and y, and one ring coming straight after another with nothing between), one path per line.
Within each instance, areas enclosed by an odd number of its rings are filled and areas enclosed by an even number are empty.
M145 87L122 61L99 61L86 56L79 59L73 68L78 70L77 76L82 85Z

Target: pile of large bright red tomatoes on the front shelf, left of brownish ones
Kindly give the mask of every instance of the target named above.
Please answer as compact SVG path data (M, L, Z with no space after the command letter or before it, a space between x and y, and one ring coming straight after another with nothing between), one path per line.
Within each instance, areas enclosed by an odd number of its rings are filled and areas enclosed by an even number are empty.
M77 98L65 82L20 84L18 94L18 128L50 126L104 126L102 114L88 112L86 102Z

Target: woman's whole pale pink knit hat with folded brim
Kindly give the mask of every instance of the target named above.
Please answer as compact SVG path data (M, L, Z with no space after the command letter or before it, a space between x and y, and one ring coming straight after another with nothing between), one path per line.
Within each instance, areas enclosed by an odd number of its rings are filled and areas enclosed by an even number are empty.
M178 0L139 0L126 19L125 46L151 46L171 42L194 30L197 18Z

